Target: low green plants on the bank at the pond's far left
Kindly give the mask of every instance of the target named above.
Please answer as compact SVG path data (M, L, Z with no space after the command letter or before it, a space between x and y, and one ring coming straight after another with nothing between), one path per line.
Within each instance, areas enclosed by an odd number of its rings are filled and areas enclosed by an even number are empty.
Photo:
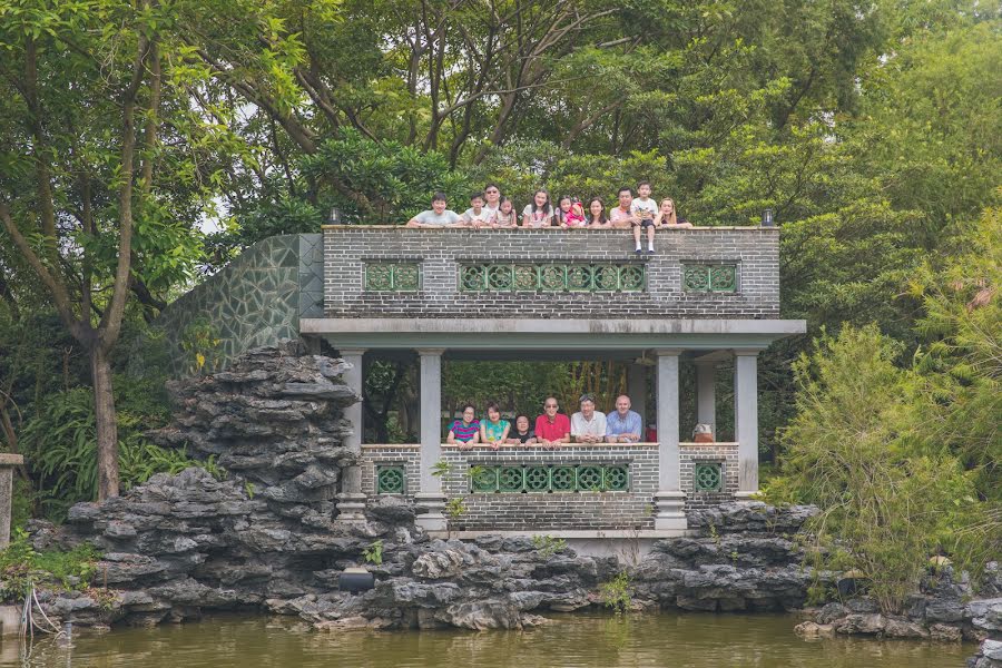
M6 550L0 552L0 597L23 599L30 582L50 583L63 589L87 589L96 573L100 553L89 543L69 551L36 551L28 534L18 529ZM75 580L70 580L73 578Z

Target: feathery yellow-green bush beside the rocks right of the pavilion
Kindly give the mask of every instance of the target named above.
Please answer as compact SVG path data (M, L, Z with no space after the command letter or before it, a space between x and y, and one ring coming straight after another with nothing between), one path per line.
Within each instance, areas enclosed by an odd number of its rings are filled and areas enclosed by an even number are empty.
M875 326L846 326L795 363L797 415L783 433L783 475L766 490L821 508L809 559L857 570L884 611L902 608L931 554L970 549L957 531L982 511L970 475L927 438L929 405L894 365L900 348Z

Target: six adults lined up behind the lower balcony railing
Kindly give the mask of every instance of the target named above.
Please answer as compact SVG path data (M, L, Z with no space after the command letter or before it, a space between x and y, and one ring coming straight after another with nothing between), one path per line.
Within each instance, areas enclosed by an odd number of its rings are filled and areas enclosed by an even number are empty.
M543 402L543 413L530 424L528 415L518 415L512 425L501 418L497 403L489 403L487 416L477 419L477 407L463 406L462 418L449 426L445 442L469 450L478 443L498 450L502 445L542 445L560 448L564 443L638 443L645 438L656 441L657 434L645 433L644 420L630 410L630 397L616 399L616 410L608 415L595 410L595 395L583 394L581 410L568 418L560 413L560 404L553 396Z

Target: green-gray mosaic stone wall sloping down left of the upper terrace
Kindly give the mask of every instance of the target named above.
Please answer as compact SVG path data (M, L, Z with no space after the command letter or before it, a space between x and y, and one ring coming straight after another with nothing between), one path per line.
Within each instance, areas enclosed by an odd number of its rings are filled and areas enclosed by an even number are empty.
M320 234L271 237L170 304L156 325L171 373L195 371L199 354L218 371L247 350L296 338L301 317L323 315L323 263Z

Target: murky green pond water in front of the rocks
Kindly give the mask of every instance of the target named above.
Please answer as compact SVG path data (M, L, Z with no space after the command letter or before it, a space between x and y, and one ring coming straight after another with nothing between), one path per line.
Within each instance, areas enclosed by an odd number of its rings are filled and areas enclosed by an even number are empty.
M803 640L787 615L651 613L556 616L525 631L314 631L287 618L215 617L154 629L80 631L70 648L51 639L0 645L0 666L198 668L238 666L518 666L837 668L960 667L976 646L912 640Z

